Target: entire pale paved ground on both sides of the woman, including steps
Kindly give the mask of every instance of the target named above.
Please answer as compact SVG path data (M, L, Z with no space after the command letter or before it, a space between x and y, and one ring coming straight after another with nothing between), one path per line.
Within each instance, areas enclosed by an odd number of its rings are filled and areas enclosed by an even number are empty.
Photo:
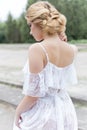
M0 130L7 130L7 128L12 130L15 105L23 97L21 94L23 83L21 70L27 60L28 46L28 44L0 45ZM78 85L68 88L76 107L81 130L87 130L86 57L87 52L83 48L83 51L80 51L75 59Z

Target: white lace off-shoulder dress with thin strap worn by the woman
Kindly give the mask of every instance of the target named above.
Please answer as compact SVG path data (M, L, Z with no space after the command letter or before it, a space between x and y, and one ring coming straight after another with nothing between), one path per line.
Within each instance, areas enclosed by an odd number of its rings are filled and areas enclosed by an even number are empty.
M13 130L78 130L74 105L66 91L66 86L77 83L74 64L57 67L49 61L38 74L29 72L29 64L24 66L23 94L39 97L32 109L23 113L21 129Z

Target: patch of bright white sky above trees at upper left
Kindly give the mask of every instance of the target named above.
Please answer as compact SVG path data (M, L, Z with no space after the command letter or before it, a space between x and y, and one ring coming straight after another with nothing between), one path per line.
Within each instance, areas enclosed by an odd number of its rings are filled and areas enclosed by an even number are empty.
M0 0L0 21L5 21L9 12L18 18L25 10L27 0Z

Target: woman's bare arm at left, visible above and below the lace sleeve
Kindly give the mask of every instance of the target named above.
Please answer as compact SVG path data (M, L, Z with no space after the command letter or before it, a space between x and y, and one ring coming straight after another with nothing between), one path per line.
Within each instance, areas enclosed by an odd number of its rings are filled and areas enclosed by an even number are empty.
M37 45L29 48L29 70L37 74L43 68L43 58ZM37 102L38 97L24 96L16 109L15 124L19 127L19 120L22 121L21 114L31 109Z

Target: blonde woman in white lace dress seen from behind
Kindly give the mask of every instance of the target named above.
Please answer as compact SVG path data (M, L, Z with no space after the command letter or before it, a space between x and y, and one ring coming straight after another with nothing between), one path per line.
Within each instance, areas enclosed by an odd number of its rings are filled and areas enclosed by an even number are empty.
M48 2L36 2L26 13L38 41L29 48L23 94L13 130L77 130L77 118L66 86L77 83L75 46L60 39L66 18Z

